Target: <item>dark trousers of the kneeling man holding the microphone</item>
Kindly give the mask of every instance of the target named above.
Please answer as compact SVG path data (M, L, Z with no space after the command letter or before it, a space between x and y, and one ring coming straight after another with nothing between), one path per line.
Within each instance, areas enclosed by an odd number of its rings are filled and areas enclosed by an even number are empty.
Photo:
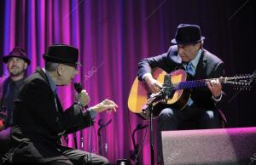
M22 142L14 149L12 162L45 163L51 165L109 164L108 159L63 145Z

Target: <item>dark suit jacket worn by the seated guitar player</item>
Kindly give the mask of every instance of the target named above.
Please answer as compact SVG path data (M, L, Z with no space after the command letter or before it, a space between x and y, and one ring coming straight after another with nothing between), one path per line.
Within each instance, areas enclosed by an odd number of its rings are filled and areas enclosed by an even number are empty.
M155 57L146 58L138 64L138 78L143 81L145 73L151 73L151 68L159 67L170 73L183 67L182 60L177 56L177 45L171 46L165 54L160 54ZM217 56L211 54L206 49L202 49L201 58L195 69L194 79L206 79L224 76L224 62ZM206 88L194 88L191 94L191 99L197 107L205 109L216 109L216 105L212 100L212 93ZM221 105L223 100L218 102Z

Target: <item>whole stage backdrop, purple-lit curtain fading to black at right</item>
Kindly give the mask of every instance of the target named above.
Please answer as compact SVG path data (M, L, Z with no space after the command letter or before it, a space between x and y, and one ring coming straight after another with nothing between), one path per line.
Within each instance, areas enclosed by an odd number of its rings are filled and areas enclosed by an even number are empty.
M66 43L79 48L82 66L75 82L81 82L90 94L90 105L108 98L119 109L98 114L93 128L77 132L77 147L99 154L98 122L111 120L101 131L102 155L114 164L117 159L130 158L134 150L131 133L137 124L148 124L127 107L138 61L166 52L177 25L191 23L201 26L204 47L224 60L226 75L250 73L255 70L255 21L249 19L255 15L253 8L249 0L0 1L0 57L15 46L25 48L32 60L27 70L30 75L37 66L44 67L42 54L49 45ZM8 76L2 60L0 64L0 75ZM236 94L231 92L230 96ZM73 85L59 88L58 93L63 107L73 103ZM256 125L253 100L255 88L230 97L224 107L227 127ZM138 160L149 164L149 131L137 131L135 141L141 145L144 134ZM67 145L75 147L74 141L74 134L69 134Z

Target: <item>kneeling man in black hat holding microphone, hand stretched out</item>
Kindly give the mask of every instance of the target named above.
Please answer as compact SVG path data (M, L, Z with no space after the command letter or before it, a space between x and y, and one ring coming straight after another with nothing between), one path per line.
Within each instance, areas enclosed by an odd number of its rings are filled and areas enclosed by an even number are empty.
M44 54L45 69L37 70L20 88L15 102L13 162L46 164L108 164L96 154L60 145L62 134L71 134L92 124L96 113L116 111L112 100L103 100L84 111L90 100L85 90L77 102L63 111L56 86L68 85L78 73L79 49L55 44Z

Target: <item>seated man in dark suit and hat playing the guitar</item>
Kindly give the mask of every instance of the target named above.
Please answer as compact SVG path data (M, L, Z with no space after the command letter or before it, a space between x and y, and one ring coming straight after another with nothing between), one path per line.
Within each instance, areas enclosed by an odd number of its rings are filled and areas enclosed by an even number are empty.
M206 79L224 76L224 62L211 54L203 46L205 37L200 27L180 24L176 37L165 54L143 59L138 64L138 77L147 84L152 93L162 87L151 75L151 69L160 67L167 73L177 69L185 70L194 79ZM218 80L207 83L207 88L195 88L189 102L181 111L166 106L158 117L158 162L163 163L160 131L176 130L184 121L198 122L199 128L219 128L220 119L217 106L223 102L224 94Z

